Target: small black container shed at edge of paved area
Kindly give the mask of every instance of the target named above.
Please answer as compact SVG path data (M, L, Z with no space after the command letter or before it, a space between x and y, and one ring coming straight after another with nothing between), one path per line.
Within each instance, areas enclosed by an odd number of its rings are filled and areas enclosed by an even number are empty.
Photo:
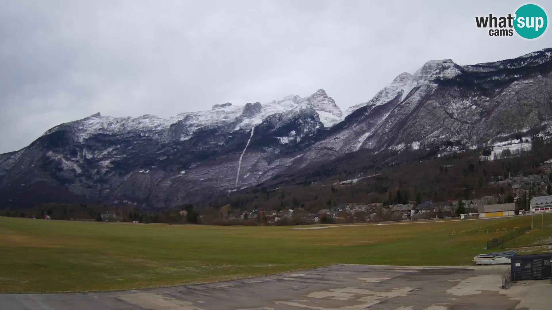
M516 255L512 257L512 280L550 279L552 253Z

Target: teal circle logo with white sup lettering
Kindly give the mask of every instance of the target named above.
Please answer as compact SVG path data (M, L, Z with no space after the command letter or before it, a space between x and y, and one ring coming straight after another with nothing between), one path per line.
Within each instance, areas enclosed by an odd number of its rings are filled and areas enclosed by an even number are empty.
M544 33L548 18L542 8L535 4L526 4L516 11L514 29L526 39L535 39Z

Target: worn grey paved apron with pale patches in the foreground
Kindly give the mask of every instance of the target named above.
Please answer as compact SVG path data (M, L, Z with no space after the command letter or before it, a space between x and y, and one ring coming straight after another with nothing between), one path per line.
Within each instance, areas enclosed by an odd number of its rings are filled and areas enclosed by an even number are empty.
M0 294L0 309L549 310L549 280L500 289L508 266L335 265L252 279L101 293Z

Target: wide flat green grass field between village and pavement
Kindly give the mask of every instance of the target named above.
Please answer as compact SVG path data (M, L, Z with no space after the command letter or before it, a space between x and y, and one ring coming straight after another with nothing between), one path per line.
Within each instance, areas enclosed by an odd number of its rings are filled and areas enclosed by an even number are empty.
M489 233L457 234L483 224ZM0 292L123 290L230 280L338 263L471 265L511 220L382 226L132 225L0 217ZM493 252L496 249L492 250Z

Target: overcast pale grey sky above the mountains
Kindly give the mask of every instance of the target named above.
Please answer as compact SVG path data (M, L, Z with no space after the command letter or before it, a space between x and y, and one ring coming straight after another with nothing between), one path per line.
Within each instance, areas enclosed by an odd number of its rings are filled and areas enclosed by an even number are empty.
M525 40L475 26L524 3L2 0L0 153L97 111L166 117L319 88L345 110L428 60L551 47L550 29Z

